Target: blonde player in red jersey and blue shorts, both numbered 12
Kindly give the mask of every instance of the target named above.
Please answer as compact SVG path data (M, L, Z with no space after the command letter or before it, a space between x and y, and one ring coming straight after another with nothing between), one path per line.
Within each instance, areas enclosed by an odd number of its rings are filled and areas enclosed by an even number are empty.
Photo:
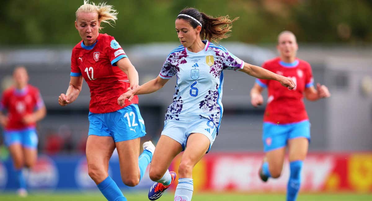
M151 162L155 146L144 143L140 157L140 137L146 134L135 97L125 106L117 98L128 87L138 87L138 73L114 37L99 33L100 23L115 22L118 13L113 6L95 5L84 1L76 11L75 27L83 39L72 51L71 80L66 94L61 94L61 106L76 100L83 78L90 89L89 133L86 156L89 176L107 200L126 200L108 175L109 159L117 149L124 184L135 186Z

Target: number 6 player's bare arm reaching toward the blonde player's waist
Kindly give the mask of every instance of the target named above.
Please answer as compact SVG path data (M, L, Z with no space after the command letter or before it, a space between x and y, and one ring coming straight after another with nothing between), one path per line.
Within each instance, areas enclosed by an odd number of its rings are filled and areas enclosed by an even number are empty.
M153 80L150 80L141 86L137 87L137 89L129 90L128 92L123 93L118 98L118 104L120 106L124 106L125 99L128 99L128 101L131 101L134 95L140 95L140 94L148 94L156 92L157 90L161 89L169 79L162 79L161 77L156 77Z

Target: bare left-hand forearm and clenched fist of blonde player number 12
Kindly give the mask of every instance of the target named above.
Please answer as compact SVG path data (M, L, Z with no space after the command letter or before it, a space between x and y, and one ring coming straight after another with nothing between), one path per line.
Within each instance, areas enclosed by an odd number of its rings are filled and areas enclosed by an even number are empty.
M71 76L70 85L67 88L66 94L61 93L61 95L58 96L58 104L60 104L61 106L65 106L67 104L74 102L77 99L77 96L79 96L80 94L82 85L83 76L79 77Z

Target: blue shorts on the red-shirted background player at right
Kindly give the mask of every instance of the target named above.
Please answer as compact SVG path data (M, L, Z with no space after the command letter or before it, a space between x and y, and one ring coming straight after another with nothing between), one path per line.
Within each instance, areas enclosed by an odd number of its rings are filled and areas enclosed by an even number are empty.
M263 151L272 151L287 145L288 140L305 137L310 141L309 120L291 124L263 123Z

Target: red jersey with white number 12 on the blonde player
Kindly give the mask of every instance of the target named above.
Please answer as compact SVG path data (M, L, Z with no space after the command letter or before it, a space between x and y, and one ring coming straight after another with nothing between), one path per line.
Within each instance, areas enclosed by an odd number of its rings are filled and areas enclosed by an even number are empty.
M89 111L107 113L117 111L118 98L130 86L128 76L116 66L116 62L127 57L113 36L99 34L97 42L86 46L79 42L72 50L71 76L83 75L90 89ZM135 96L125 106L138 103Z

